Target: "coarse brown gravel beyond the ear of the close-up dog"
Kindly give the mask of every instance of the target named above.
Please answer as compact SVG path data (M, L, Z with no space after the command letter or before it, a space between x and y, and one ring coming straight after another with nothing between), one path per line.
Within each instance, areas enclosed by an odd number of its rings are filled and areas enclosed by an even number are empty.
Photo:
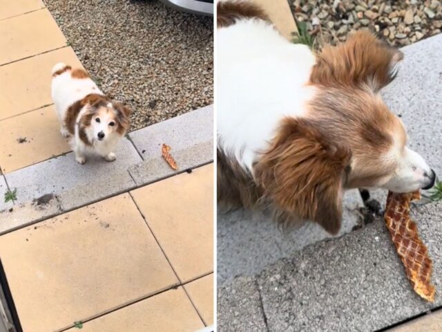
M344 42L368 28L393 46L405 46L441 33L440 0L289 0L296 21L323 43Z

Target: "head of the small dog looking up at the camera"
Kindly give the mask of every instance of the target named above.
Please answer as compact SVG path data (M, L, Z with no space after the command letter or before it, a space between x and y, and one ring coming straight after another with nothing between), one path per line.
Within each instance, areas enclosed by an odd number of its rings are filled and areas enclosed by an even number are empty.
M79 120L90 141L106 142L123 136L129 127L131 110L102 95L88 95L83 101L86 111Z

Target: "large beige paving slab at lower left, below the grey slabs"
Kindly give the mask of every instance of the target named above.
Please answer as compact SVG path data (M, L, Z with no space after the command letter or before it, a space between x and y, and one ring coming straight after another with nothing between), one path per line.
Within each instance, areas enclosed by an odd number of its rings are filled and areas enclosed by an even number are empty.
M127 193L3 235L0 252L27 332L60 331L177 286Z

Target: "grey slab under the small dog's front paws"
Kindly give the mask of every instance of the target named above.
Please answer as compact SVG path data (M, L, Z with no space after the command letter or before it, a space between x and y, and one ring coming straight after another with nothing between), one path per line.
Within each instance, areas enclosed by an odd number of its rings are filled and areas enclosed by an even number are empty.
M73 152L6 174L11 188L17 188L17 201L25 203L44 194L56 194L62 210L75 208L135 186L127 169L140 163L132 143L123 138L115 151L117 160L109 163L90 156L79 165Z

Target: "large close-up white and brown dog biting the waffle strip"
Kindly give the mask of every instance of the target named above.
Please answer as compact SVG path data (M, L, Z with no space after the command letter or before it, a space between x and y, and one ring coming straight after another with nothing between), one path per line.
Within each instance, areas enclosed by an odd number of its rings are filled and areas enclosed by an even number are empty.
M271 207L283 224L340 229L343 192L432 187L381 99L403 54L368 32L316 54L291 44L265 12L218 3L218 202Z

